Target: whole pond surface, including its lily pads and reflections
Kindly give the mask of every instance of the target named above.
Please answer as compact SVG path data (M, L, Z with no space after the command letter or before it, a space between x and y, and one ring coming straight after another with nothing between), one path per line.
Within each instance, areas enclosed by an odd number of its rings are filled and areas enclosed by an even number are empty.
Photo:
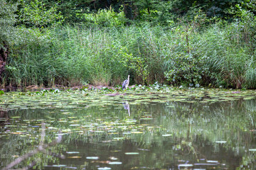
M17 160L12 169L256 169L255 96L204 89L6 93L0 169Z

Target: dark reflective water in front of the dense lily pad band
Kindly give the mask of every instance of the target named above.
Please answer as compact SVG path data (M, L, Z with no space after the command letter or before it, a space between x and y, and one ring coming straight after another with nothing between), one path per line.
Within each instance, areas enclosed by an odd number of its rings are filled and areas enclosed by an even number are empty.
M0 169L256 169L256 101L135 103L1 111ZM59 138L60 139L60 138ZM63 154L65 159L53 155Z

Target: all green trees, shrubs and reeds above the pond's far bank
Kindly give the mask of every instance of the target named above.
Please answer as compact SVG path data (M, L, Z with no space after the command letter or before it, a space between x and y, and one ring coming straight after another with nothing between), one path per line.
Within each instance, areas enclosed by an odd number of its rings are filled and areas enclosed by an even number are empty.
M256 88L256 4L247 1L0 0L6 86Z

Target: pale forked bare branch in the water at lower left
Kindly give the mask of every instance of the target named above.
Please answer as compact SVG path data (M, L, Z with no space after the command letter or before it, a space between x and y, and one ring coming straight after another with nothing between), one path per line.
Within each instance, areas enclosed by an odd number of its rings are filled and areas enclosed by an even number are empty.
M52 146L57 145L58 143L60 143L61 140L62 140L62 135L58 135L58 140L54 140L53 142L50 142L49 144L44 144L44 140L45 140L45 137L46 137L46 123L42 123L41 127L42 127L41 140L39 142L38 148L33 149L31 152L28 152L27 154L24 154L21 157L18 157L17 159L14 160L14 162L11 162L6 167L4 167L4 169L2 169L2 170L11 169L11 167L16 166L17 164L20 164L25 159L28 159L29 157L33 157L34 154L38 154L39 152L41 152L43 154L51 155L53 157L58 157L60 159L65 158L65 156L63 156L62 154L55 154L53 152L50 152L50 150L47 150L48 147L52 147ZM40 162L40 159L36 159L36 161L31 162L31 164L29 164L26 167L23 167L22 169L30 169L33 166L35 166L38 162Z

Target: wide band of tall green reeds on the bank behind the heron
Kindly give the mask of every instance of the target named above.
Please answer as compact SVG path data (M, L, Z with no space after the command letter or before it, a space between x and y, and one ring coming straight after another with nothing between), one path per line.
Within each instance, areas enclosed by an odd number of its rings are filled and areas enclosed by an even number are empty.
M215 24L201 31L186 30L62 26L41 33L20 28L21 40L11 47L5 85L114 86L130 74L132 84L256 88L252 49L234 40L240 36L235 27Z

